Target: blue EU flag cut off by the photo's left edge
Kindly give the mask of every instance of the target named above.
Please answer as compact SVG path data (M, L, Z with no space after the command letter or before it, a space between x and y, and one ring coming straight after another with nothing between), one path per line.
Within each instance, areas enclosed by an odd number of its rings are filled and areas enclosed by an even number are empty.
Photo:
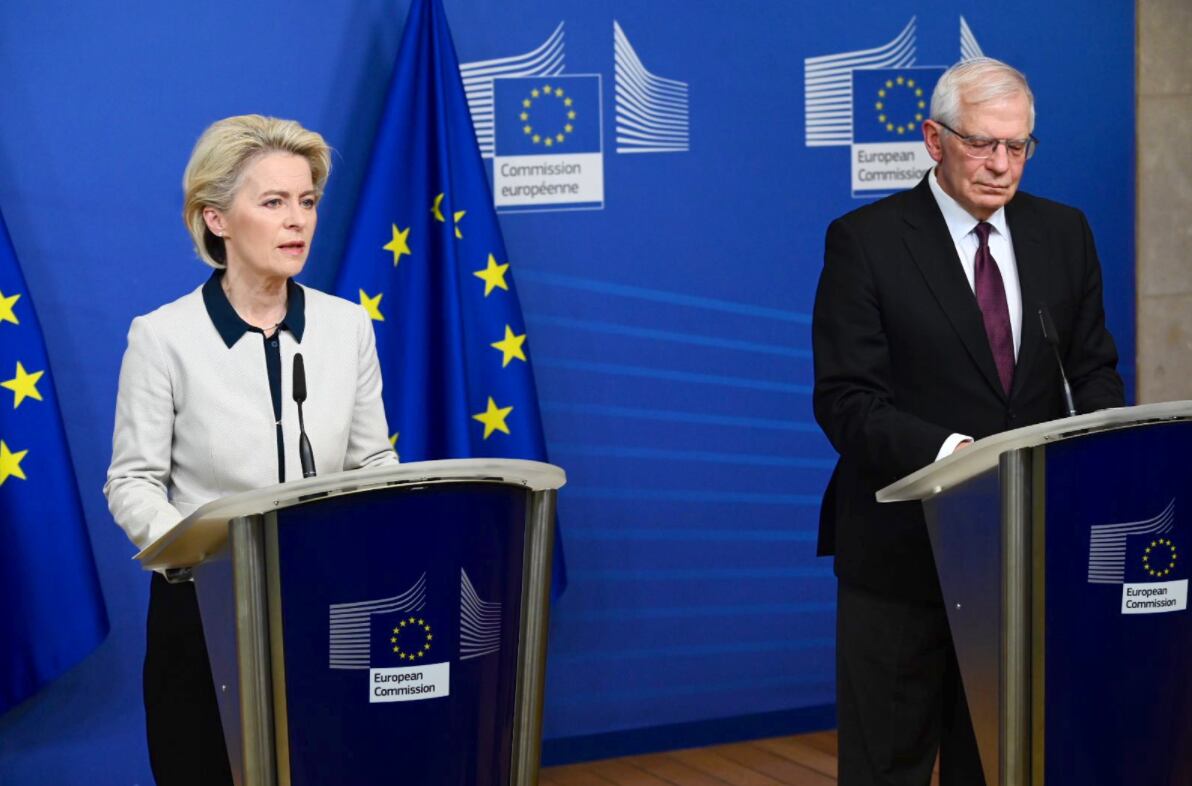
M107 635L46 360L0 215L0 713Z

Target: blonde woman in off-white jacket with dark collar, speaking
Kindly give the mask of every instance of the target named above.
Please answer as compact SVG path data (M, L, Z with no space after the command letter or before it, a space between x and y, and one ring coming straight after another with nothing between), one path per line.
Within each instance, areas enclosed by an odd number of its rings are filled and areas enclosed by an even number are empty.
M182 217L215 271L132 321L120 367L104 494L137 547L210 500L302 477L288 373L299 352L318 468L397 462L367 314L293 280L329 172L327 143L293 120L229 117L195 144ZM159 574L144 704L159 786L231 782L193 583Z

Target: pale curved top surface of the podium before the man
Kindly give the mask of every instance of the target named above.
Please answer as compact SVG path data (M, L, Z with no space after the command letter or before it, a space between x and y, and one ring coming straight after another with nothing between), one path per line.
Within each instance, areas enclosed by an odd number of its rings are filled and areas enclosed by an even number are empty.
M1044 423L1001 432L973 442L877 491L879 502L926 500L998 465L1006 451L1048 445L1097 432L1150 423L1192 420L1192 401L1168 401L1141 407L1103 409L1087 415L1049 420Z

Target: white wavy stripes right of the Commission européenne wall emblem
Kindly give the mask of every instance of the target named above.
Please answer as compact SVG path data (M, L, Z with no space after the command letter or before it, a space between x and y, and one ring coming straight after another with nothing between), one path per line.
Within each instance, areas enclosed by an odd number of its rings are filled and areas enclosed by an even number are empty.
M690 147L688 85L646 70L613 20L617 153L684 153Z

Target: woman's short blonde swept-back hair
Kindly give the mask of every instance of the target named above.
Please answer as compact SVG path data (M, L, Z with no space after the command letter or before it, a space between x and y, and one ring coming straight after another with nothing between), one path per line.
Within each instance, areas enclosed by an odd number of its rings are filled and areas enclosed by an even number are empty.
M203 218L206 208L226 211L249 165L268 153L292 153L310 163L315 191L323 193L331 173L331 148L315 131L294 120L261 115L238 115L212 123L194 143L182 174L182 221L194 250L212 267L226 267L228 253Z

